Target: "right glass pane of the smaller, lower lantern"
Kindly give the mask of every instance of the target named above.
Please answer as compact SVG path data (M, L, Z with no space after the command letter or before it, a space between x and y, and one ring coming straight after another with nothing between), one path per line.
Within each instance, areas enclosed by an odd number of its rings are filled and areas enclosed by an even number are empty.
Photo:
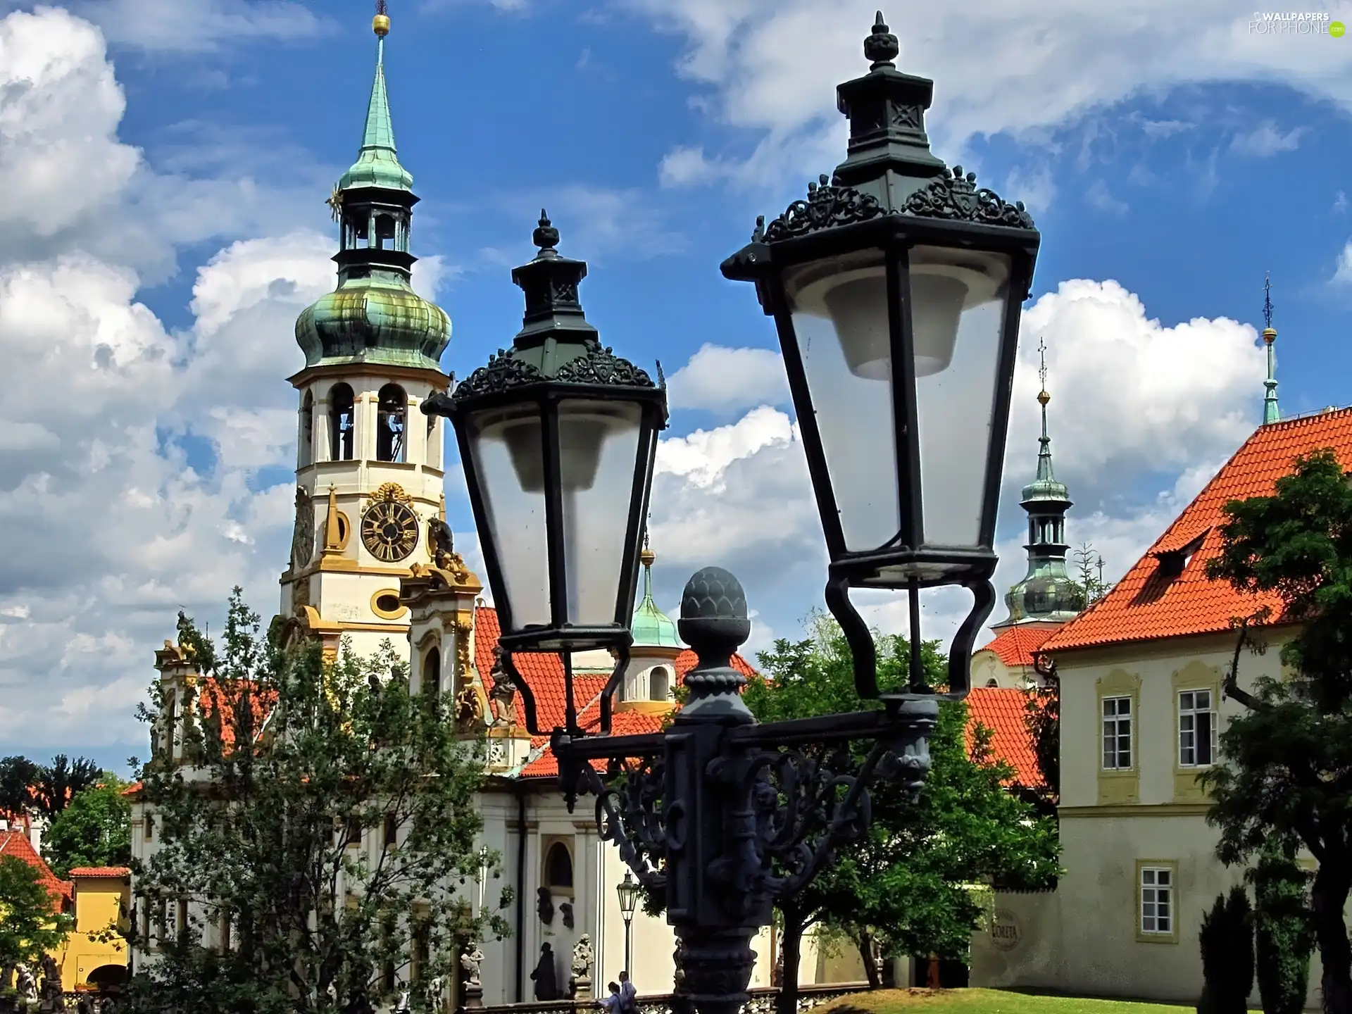
M625 580L641 425L642 408L631 402L558 403L569 623L603 626L626 619L615 615L615 606Z

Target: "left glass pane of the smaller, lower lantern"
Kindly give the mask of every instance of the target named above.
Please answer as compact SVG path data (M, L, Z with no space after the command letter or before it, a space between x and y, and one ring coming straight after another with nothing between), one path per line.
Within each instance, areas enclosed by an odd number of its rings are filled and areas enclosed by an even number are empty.
M469 416L469 454L512 626L548 626L544 426L538 404L484 408Z

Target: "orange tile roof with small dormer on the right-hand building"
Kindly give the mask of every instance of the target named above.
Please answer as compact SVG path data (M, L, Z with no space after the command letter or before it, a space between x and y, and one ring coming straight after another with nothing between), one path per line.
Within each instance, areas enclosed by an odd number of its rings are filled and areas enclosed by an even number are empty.
M1276 596L1209 581L1206 561L1220 553L1228 502L1272 495L1297 457L1321 448L1333 448L1344 468L1352 465L1352 408L1259 427L1113 591L1044 641L1042 650L1224 633L1232 618L1263 606L1279 612ZM1194 542L1183 572L1168 576L1157 554L1176 554Z

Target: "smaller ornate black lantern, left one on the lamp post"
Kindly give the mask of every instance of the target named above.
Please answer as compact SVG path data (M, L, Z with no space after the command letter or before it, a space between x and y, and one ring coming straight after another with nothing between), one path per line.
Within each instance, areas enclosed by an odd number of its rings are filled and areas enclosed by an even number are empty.
M533 239L539 253L511 274L526 295L512 347L422 408L456 429L508 672L514 652L562 652L566 664L610 649L618 679L665 383L600 345L577 300L587 264L558 256L544 211ZM534 730L530 687L514 683Z

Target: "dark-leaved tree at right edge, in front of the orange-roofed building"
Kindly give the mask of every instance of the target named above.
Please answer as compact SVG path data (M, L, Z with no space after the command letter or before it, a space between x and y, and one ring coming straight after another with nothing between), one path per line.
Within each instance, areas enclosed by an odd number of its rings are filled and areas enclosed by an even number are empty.
M1222 764L1203 776L1220 827L1218 854L1241 864L1271 838L1298 838L1317 871L1313 927L1326 1011L1352 1011L1352 946L1343 911L1352 891L1352 487L1332 450L1295 460L1272 496L1225 507L1220 554L1207 576L1256 592L1267 606L1237 618L1228 696L1247 711L1221 734ZM1260 599L1261 602L1261 599ZM1253 629L1276 615L1299 623L1280 652L1282 679L1238 685Z

